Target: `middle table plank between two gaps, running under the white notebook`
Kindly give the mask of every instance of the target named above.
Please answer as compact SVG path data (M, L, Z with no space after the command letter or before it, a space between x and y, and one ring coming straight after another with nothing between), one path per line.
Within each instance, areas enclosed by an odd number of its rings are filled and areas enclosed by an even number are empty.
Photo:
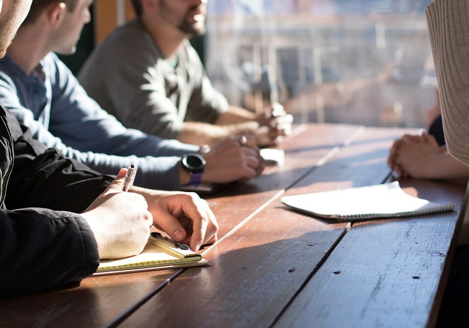
M342 188L343 180L358 185L383 181L390 171L383 156L402 130L380 131L364 129L351 151L333 151L329 161L299 181L298 190ZM360 173L361 166L367 174ZM298 191L297 185L286 194ZM208 252L211 267L187 270L122 326L272 325L346 231L343 223L286 210L280 196Z

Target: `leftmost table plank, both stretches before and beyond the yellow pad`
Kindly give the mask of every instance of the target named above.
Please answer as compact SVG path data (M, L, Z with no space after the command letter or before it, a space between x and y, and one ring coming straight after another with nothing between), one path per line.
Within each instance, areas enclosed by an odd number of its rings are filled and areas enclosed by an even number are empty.
M229 233L279 190L306 174L321 157L341 145L358 128L317 125L297 129L297 134L284 142L287 150L284 167L269 168L263 176L246 184L232 184L219 197L209 200L221 226L219 236ZM29 327L44 323L47 326L101 327L118 322L121 316L134 310L133 306L145 302L181 272L154 271L87 278L79 286L0 301L0 325Z

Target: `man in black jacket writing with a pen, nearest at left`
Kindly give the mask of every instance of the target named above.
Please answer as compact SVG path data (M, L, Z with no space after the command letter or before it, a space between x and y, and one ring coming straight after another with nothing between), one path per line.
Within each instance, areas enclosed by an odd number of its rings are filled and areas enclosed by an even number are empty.
M0 57L30 4L0 1ZM100 258L141 252L152 224L194 250L216 241L207 202L138 187L124 192L125 174L113 180L48 149L0 106L0 298L78 281Z

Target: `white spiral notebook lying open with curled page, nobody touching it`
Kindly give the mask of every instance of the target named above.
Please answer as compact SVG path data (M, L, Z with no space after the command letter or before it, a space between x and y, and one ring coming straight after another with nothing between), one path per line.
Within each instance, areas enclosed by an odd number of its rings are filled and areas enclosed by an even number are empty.
M453 210L454 202L430 202L406 194L398 181L367 187L282 197L290 207L323 218L358 221Z

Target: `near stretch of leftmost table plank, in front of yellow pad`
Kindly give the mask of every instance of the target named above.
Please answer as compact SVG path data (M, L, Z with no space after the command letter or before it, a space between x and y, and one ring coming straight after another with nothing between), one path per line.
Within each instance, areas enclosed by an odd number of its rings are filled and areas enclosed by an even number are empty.
M177 270L155 271L164 286ZM0 327L102 327L151 291L148 277L104 276L0 301Z

